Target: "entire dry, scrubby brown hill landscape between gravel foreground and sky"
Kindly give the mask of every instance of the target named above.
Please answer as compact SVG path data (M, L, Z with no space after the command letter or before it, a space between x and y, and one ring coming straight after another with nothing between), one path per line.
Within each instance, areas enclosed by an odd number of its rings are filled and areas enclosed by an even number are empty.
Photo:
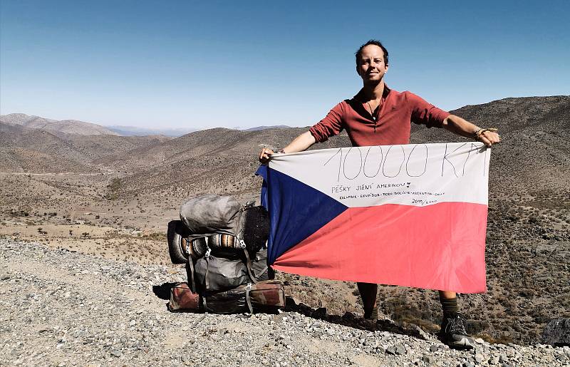
M570 317L570 97L507 98L453 113L497 127L487 229L487 294L463 295L473 334L536 343ZM0 124L0 235L100 257L167 263L165 228L180 203L204 193L259 197L263 146L283 148L306 128L202 130L168 139L53 135ZM413 126L412 143L469 141ZM313 149L349 146L346 134ZM73 172L73 173L65 173ZM354 284L281 274L298 301L331 314L361 312ZM380 309L437 330L437 294L380 288Z

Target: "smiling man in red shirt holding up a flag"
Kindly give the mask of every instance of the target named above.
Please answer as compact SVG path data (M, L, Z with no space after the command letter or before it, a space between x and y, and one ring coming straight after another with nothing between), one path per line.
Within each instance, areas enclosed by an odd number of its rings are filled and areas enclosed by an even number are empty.
M496 129L479 128L458 116L440 110L408 91L393 91L384 83L388 72L388 51L380 41L364 43L356 52L356 72L363 88L351 100L338 103L323 120L299 135L279 153L306 150L346 129L354 146L398 145L410 143L410 122L445 128L452 133L481 141L485 145L499 143ZM273 150L259 153L261 163L269 162ZM378 319L377 284L358 283L364 317ZM440 291L443 309L442 339L455 348L471 349L472 338L465 331L465 318L459 313L455 291Z

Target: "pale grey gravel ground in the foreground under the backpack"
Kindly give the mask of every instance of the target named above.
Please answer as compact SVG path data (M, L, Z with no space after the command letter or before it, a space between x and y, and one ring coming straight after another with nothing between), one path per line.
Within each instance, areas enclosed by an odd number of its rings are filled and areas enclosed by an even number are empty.
M183 269L0 239L0 366L569 366L570 348L366 331L297 312L172 314ZM426 340L427 339L427 340Z

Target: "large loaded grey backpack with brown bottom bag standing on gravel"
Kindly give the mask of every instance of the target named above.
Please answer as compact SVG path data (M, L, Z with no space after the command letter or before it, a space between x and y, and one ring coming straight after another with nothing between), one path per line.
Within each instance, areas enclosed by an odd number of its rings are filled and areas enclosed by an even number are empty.
M185 202L168 226L170 259L186 264L187 283L170 292L170 311L233 314L284 308L283 284L271 280L269 214L252 202L202 195Z

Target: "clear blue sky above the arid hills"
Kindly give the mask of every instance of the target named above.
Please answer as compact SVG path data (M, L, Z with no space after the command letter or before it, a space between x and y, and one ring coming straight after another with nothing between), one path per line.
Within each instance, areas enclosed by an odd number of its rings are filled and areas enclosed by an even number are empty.
M313 125L361 88L371 38L390 88L445 110L569 95L569 18L570 1L0 0L0 114Z

